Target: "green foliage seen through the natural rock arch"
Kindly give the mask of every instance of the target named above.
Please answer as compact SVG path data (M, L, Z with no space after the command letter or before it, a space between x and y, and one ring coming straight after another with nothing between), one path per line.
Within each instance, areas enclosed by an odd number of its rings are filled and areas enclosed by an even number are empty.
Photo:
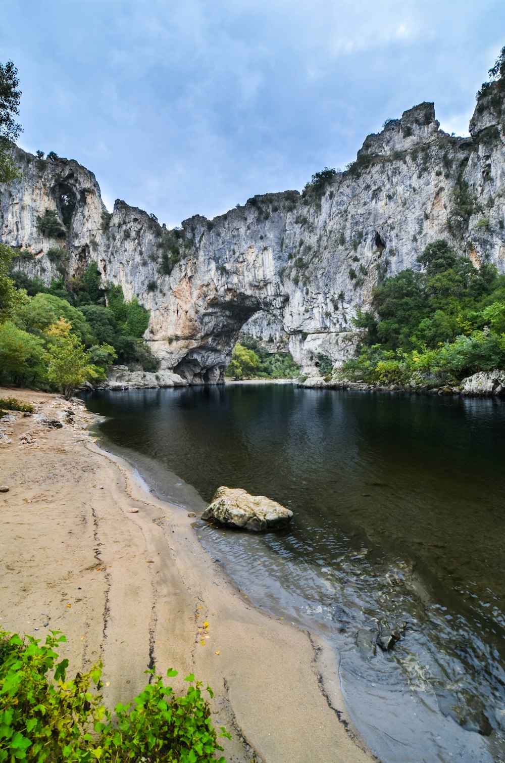
M236 344L227 368L227 376L233 378L294 378L300 369L291 353L269 353L252 336Z

